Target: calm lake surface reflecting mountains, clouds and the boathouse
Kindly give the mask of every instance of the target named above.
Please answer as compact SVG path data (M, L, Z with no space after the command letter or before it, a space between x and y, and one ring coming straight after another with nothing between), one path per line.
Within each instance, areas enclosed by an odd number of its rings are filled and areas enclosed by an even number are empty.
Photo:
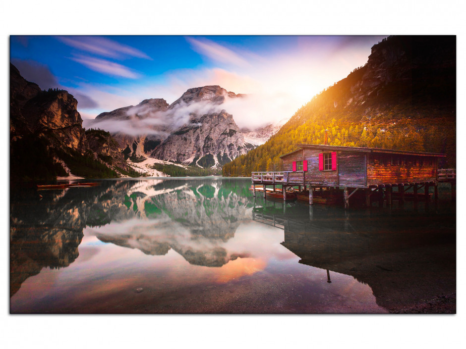
M11 190L11 313L456 311L456 216L254 199L250 179Z

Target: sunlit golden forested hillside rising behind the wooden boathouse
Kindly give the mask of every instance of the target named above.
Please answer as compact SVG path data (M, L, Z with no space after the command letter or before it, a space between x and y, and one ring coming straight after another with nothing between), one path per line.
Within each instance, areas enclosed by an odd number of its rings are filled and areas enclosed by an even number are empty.
M299 108L267 143L223 167L224 176L282 170L297 144L447 154L456 165L456 37L388 37L367 63Z

